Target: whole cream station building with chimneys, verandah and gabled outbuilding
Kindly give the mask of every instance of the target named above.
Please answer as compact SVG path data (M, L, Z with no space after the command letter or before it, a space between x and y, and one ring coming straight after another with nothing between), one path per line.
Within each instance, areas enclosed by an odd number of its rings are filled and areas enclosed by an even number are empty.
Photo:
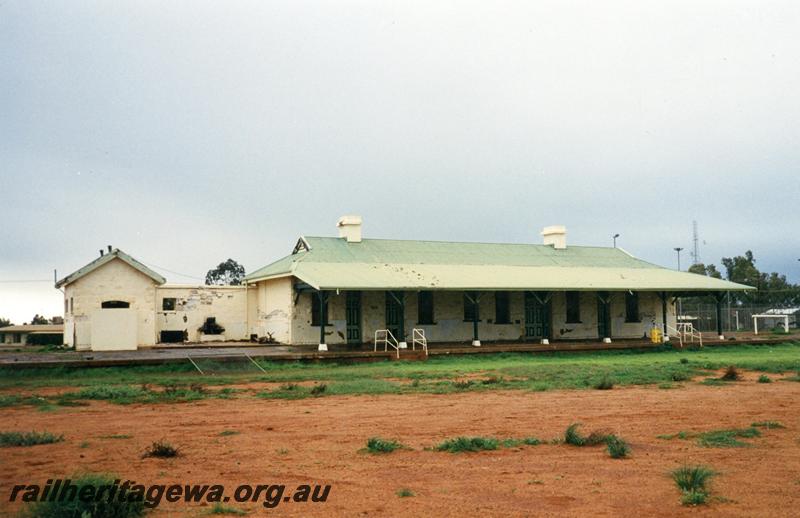
M166 284L118 249L62 279L64 341L125 350L170 343L398 343L641 339L677 327L675 300L750 289L647 263L620 248L363 239L361 218L339 237L301 237L243 286ZM719 303L718 303L719 308ZM721 334L721 330L718 331Z

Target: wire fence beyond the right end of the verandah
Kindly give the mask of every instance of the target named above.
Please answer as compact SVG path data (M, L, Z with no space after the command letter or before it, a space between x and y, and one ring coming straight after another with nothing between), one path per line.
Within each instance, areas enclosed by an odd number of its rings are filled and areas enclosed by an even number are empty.
M754 331L753 315L773 315L770 318L760 318L758 321L759 332L775 328L783 328L784 317L776 312L786 310L789 314L789 328L797 329L800 323L800 308L786 308L765 304L722 303L722 330ZM717 330L717 306L713 303L681 301L679 305L681 322L691 322L699 331L712 332Z

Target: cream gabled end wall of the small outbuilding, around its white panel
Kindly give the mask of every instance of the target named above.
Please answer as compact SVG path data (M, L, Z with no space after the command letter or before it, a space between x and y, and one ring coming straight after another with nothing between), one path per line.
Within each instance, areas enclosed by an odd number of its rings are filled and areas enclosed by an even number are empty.
M68 311L64 315L64 343L78 350L91 346L91 314L106 300L121 300L136 311L138 345L155 344L156 283L148 276L114 259L64 288ZM107 309L104 311L114 311Z

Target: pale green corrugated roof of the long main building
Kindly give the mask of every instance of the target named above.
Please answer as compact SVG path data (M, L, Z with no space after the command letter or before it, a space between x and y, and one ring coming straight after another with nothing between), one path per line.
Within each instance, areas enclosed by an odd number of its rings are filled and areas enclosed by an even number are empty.
M299 251L247 276L292 275L317 289L671 290L751 289L678 272L619 248L301 238ZM307 249L304 249L307 248Z

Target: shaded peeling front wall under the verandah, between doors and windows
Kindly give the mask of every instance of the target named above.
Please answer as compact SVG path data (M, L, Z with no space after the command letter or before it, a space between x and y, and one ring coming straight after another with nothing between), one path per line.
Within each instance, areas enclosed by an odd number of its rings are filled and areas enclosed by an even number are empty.
M319 343L319 327L311 325L311 296L303 293L294 306L292 318L292 342L297 344ZM376 329L386 328L383 291L362 293L362 336L364 342L372 342ZM346 293L332 292L329 298L329 323L325 329L326 343L346 342L345 320ZM431 342L470 342L472 322L464 321L464 303L461 292L440 291L433 294L434 325L417 323L417 293L406 292L405 332L406 340L411 339L411 330L425 330ZM493 292L485 292L480 300L480 322L478 334L482 341L520 340L525 333L524 294L510 293L510 324L495 324L495 298ZM649 332L653 321L661 323L661 300L654 293L642 292L639 295L640 322L625 322L625 294L612 293L611 329L612 337L642 338ZM674 306L668 306L668 322L675 325ZM491 322L490 322L491 321ZM563 292L553 293L552 298L552 336L554 339L597 339L597 296L594 292L581 294L581 323L566 323L566 297ZM399 337L398 337L399 338Z

